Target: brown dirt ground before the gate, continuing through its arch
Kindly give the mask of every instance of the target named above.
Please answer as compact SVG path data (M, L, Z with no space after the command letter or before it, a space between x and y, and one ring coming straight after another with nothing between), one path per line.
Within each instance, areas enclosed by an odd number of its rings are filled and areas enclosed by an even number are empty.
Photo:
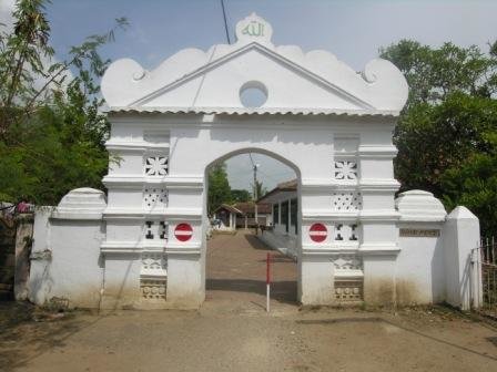
M229 254L230 247L245 248ZM0 303L0 371L497 370L497 329L445 308L300 310L295 265L283 258L275 268L280 294L266 314L264 246L237 235L216 237L211 248L200 311L59 319Z

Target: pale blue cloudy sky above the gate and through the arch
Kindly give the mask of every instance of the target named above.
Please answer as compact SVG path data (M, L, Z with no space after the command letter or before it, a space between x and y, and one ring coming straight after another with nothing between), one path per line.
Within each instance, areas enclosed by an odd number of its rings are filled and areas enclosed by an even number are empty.
M0 21L12 0L0 0ZM253 11L273 27L276 45L296 44L304 51L324 49L357 71L378 55L381 46L414 39L439 46L452 41L462 46L477 44L485 51L497 38L497 0L224 0L229 32L234 39L236 22ZM130 27L102 55L132 58L145 69L185 48L207 50L226 43L221 0L52 0L47 13L52 45L63 60L71 45L85 37L103 33L115 18ZM268 188L295 177L292 169L263 155L260 179ZM227 162L232 188L252 182L247 155Z

